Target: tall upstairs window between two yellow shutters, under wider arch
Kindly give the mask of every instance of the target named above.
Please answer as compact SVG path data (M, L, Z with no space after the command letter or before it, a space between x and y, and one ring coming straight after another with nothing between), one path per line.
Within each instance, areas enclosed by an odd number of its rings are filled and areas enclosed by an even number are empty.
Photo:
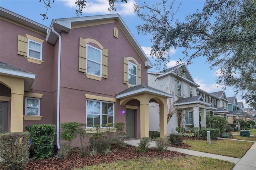
M102 51L87 44L87 73L101 77Z

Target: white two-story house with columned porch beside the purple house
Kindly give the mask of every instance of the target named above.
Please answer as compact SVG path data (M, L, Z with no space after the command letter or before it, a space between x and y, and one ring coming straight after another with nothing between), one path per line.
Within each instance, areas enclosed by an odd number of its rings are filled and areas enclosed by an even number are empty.
M199 87L194 82L184 63L167 69L164 73L148 71L148 85L173 95L168 99L167 113L171 114L168 122L168 133L176 132L175 128L184 123L184 127L198 127L201 113L201 125L205 124L205 109L209 105L202 96L197 96L196 89ZM150 130L159 130L161 123L158 121L159 109L155 103L150 103ZM181 119L182 118L182 119Z

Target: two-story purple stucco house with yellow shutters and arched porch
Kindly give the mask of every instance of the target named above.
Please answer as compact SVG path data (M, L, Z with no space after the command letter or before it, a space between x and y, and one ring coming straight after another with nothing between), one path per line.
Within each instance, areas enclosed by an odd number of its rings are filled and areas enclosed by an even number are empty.
M149 104L167 136L168 93L148 87L148 60L119 14L63 18L43 26L0 8L2 132L33 124L126 123L149 136ZM194 91L195 93L195 91Z

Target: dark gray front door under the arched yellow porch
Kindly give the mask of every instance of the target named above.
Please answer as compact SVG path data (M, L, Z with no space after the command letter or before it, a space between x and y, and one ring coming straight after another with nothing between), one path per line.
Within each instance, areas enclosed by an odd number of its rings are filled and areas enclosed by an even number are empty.
M126 136L135 138L135 110L126 110Z

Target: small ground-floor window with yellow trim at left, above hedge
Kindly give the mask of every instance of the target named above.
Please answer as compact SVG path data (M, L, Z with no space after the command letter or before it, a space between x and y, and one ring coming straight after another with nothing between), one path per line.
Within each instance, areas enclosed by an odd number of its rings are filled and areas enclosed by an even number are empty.
M40 99L25 98L25 115L40 116Z

